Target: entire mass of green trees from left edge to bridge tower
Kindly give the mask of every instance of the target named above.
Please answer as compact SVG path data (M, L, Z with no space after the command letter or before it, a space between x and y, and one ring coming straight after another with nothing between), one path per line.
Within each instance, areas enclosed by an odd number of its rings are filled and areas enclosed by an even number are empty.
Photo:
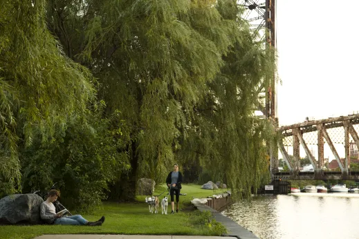
M1 6L0 182L17 183L9 189L59 180L67 190L72 179L93 191L91 204L103 189L123 198L141 177L163 182L174 162L241 195L268 180L273 129L254 112L275 57L236 1Z

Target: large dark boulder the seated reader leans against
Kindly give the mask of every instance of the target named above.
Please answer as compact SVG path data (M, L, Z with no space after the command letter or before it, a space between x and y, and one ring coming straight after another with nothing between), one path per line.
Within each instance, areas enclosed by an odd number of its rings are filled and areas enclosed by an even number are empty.
M42 224L40 204L36 194L12 194L0 200L0 224Z

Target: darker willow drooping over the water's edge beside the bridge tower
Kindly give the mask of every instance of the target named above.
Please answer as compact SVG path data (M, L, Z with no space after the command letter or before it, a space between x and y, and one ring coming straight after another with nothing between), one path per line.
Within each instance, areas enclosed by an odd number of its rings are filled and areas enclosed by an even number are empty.
M275 52L252 34L235 1L219 1L217 9L223 19L235 22L236 38L205 100L194 109L178 157L186 165L201 165L234 194L248 196L269 180L266 144L275 140L273 124L255 111L259 92L275 72Z

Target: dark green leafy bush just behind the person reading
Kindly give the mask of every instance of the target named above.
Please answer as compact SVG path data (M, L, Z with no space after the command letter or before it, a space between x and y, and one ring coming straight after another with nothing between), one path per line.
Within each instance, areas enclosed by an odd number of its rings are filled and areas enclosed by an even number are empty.
M55 139L41 142L21 152L24 189L48 189L59 182L61 202L69 209L92 211L106 198L107 183L129 169L120 128L111 128L120 113L101 118L104 105L95 105L86 117L73 115L66 127L58 128ZM117 124L120 126L120 124Z

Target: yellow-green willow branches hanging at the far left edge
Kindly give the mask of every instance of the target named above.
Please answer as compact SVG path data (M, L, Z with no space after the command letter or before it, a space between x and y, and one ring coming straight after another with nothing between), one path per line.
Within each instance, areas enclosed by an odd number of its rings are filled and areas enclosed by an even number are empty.
M86 111L94 98L89 70L68 59L46 26L47 1L0 1L0 185L21 190L19 146Z

